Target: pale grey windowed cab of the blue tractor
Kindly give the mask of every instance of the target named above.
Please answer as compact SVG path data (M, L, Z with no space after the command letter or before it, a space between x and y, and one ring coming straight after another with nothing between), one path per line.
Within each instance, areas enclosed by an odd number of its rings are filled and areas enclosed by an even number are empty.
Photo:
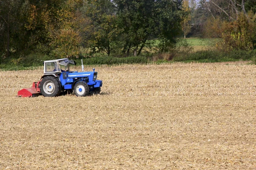
M69 64L76 65L76 62L69 59L55 59L44 61L44 75L59 74L70 71Z

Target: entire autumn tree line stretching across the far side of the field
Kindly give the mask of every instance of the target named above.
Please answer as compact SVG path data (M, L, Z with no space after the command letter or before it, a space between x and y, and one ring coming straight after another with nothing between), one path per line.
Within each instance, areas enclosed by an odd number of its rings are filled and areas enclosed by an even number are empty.
M255 23L256 0L0 0L0 57L139 56L186 36L250 50Z

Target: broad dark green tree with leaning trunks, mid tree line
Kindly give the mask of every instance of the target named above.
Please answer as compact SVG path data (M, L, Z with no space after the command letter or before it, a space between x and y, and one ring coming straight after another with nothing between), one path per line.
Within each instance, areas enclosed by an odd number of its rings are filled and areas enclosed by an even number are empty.
M122 51L127 55L131 49L134 56L140 55L152 35L165 45L167 41L174 41L180 30L179 0L113 0L113 3L118 26L123 29Z

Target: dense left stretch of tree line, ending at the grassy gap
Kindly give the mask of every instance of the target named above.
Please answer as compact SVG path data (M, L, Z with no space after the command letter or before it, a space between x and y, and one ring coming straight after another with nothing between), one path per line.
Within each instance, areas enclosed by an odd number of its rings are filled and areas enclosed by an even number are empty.
M140 55L180 34L181 0L0 0L0 55ZM158 39L152 44L147 40Z

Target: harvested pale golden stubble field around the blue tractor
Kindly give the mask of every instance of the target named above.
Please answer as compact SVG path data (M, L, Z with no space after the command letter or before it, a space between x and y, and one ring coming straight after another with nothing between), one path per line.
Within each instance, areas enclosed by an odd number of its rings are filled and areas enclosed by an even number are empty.
M55 98L16 97L41 68L0 72L0 169L256 169L255 65L96 71L100 95Z

